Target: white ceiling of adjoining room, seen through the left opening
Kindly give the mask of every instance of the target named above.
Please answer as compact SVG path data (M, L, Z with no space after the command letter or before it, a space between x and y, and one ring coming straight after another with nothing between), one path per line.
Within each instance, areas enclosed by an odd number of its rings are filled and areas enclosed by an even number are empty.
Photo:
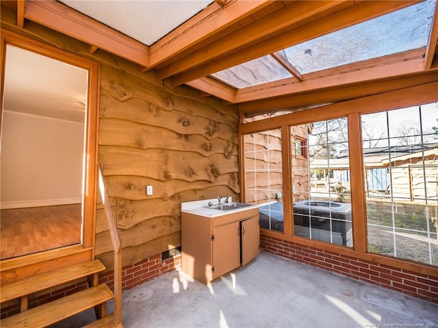
M7 46L3 109L83 122L88 72Z

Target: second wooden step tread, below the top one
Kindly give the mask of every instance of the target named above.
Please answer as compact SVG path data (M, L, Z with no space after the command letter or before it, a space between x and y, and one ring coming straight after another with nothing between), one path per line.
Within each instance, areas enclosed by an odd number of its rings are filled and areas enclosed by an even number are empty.
M110 288L101 284L4 318L0 320L0 326L1 328L46 327L96 305L106 303L113 296Z

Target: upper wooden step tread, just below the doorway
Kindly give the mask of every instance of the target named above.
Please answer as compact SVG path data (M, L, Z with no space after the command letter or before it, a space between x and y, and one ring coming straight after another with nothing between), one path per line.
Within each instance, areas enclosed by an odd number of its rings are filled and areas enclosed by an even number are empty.
M81 277L93 275L103 270L105 270L105 266L101 261L92 260L40 273L32 277L18 279L13 282L6 282L5 284L1 284L0 287L0 303L64 284L64 282L70 282Z

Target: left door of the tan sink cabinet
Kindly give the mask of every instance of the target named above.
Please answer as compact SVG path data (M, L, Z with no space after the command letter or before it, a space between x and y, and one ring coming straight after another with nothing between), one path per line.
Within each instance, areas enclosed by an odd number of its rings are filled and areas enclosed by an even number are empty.
M213 228L213 279L240 266L240 223Z

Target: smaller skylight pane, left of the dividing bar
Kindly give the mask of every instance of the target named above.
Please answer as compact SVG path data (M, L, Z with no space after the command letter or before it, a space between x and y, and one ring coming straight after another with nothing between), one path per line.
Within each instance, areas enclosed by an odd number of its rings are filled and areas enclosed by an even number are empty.
M211 77L240 89L292 77L292 74L287 72L272 56L266 55L211 74Z

